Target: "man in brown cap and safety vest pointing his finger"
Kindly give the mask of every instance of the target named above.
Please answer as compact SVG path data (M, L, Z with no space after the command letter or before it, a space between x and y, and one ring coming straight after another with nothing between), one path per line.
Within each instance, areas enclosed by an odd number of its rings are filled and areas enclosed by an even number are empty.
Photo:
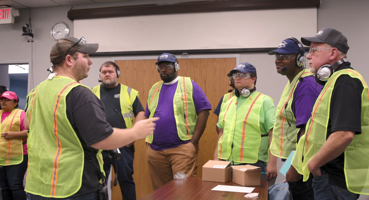
M78 81L88 76L89 53L98 44L66 37L51 48L48 78L27 96L28 172L25 191L31 199L107 197L102 150L120 148L154 130L155 119L132 129L112 128L104 104ZM29 125L28 125L29 123Z

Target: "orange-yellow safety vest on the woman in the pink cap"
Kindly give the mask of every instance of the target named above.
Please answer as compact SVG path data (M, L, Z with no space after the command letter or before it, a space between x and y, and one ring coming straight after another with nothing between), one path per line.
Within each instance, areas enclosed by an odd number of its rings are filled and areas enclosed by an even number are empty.
M23 110L14 109L2 123L0 123L0 133L20 131L21 112ZM0 110L0 119L3 110ZM7 140L0 137L0 165L17 165L23 161L22 139Z

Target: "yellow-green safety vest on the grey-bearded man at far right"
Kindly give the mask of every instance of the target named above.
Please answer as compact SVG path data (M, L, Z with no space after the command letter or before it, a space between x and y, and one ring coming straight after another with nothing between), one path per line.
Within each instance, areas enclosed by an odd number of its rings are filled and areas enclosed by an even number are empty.
M344 172L346 186L350 192L357 194L369 194L369 90L361 74L355 70L339 70L332 74L325 83L315 105L311 118L307 122L306 134L297 144L296 152L292 158L292 165L297 172L304 176L307 181L310 175L308 162L323 147L327 137L327 126L330 116L330 104L334 85L339 76L344 74L352 78L358 78L363 84L364 90L361 99L361 130L362 133L355 135L348 145L345 154ZM345 117L345 116L342 116Z

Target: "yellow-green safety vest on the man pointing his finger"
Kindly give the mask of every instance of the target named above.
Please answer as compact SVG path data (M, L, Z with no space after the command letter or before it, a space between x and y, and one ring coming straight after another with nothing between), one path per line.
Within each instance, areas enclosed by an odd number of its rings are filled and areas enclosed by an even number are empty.
M40 83L27 96L30 132L25 191L28 193L66 198L82 185L85 155L66 116L66 96L79 85L71 78L54 76ZM96 158L104 172L101 151Z

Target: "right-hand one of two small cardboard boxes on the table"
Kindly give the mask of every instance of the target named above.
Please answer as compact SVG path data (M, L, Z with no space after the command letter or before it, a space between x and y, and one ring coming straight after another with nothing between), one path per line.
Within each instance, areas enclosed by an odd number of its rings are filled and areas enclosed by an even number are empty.
M261 169L252 165L234 165L232 182L242 186L257 186L261 182Z

